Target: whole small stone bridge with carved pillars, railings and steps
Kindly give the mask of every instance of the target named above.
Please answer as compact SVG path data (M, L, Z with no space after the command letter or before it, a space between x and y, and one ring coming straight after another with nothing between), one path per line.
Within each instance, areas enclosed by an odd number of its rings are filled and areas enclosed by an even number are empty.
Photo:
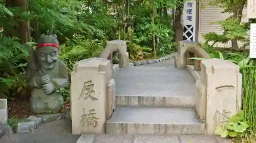
M115 51L119 65L108 60ZM189 65L191 54L206 60ZM238 65L209 59L191 41L181 41L174 58L163 58L175 64L129 67L126 42L114 40L100 58L76 63L71 75L72 132L86 134L78 142L92 141L93 134L87 133L215 135L215 127L241 108Z

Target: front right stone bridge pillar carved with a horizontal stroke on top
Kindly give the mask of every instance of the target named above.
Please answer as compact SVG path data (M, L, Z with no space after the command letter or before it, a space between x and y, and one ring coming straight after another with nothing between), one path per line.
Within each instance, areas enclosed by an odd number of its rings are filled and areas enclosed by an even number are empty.
M242 74L239 66L221 59L201 61L200 79L196 82L196 110L205 120L206 134L225 124L241 109Z

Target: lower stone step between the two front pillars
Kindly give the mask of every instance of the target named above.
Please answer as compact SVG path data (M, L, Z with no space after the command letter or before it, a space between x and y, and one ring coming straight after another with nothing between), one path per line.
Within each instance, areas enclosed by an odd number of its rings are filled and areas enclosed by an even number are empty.
M117 106L106 133L194 134L205 133L205 124L194 108Z

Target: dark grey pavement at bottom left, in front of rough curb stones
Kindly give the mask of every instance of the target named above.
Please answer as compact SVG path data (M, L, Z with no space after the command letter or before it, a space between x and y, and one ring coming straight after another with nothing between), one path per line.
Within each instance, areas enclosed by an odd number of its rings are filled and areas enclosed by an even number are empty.
M1 143L76 143L80 135L72 135L68 119L41 124L34 133L4 135Z

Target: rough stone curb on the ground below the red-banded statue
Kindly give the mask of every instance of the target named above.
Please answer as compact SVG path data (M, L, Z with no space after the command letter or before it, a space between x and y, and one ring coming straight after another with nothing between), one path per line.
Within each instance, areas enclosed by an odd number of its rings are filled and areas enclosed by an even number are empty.
M64 114L42 114L40 116L31 115L25 121L17 123L14 128L8 124L0 123L0 139L5 134L34 132L42 123L61 120L63 118L70 118L70 112L66 111Z

